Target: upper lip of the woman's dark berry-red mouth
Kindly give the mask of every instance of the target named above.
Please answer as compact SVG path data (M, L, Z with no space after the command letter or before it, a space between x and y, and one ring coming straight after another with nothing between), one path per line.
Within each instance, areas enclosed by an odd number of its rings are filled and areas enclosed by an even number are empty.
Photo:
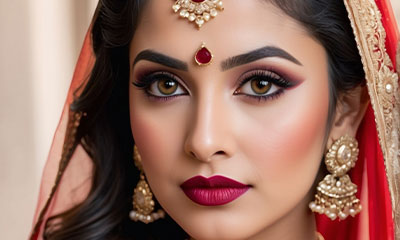
M249 186L224 176L194 176L181 184L181 188L248 188Z

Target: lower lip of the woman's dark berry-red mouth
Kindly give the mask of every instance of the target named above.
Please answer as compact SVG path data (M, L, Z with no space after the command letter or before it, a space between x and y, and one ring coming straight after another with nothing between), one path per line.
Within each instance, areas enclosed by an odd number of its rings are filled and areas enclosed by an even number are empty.
M187 188L183 192L193 202L203 206L219 206L230 203L249 190L241 188Z

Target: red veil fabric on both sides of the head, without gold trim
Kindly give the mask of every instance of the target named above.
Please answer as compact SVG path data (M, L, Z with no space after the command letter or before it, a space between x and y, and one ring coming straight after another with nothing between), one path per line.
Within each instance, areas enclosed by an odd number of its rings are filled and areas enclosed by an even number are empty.
M368 1L373 2L373 0ZM386 31L386 52L393 66L396 66L399 32L390 2L389 0L375 0L375 2L382 14L382 25ZM42 239L46 220L82 202L90 190L93 167L90 157L79 144L71 145L73 148L71 156L65 154L65 149L71 147L67 144L71 142L69 127L73 126L71 122L76 121L74 113L70 111L70 104L88 79L94 61L89 29L43 171L31 239ZM357 197L361 199L363 210L356 217L349 217L344 221L332 222L324 215L317 215L318 231L326 240L400 240L399 229L397 238L395 237L395 214L392 207L393 195L391 195L394 193L390 192L388 185L387 166L376 125L375 112L370 105L357 133L360 154L350 174L352 181L358 186ZM399 161L399 159L392 160Z

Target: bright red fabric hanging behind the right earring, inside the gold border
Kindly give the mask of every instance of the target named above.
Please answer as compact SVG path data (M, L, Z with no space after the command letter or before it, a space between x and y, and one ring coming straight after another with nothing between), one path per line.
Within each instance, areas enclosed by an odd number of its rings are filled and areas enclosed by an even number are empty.
M357 140L359 141L359 159L350 174L358 186L357 197L361 199L363 209L354 218L345 221L331 221L325 215L316 215L317 229L326 240L334 239L387 239L394 240L392 208L386 181L383 155L375 129L375 117L369 106L361 123ZM363 182L367 181L367 183ZM362 196L363 192L366 195ZM362 225L362 218L368 218L368 225Z

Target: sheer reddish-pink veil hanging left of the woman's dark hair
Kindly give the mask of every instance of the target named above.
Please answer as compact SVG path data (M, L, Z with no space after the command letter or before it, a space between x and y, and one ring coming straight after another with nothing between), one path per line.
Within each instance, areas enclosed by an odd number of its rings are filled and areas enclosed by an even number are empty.
M70 110L95 61L90 32L89 28L43 170L31 239L42 239L46 220L82 202L91 187L92 161L74 139L76 125L82 116Z

